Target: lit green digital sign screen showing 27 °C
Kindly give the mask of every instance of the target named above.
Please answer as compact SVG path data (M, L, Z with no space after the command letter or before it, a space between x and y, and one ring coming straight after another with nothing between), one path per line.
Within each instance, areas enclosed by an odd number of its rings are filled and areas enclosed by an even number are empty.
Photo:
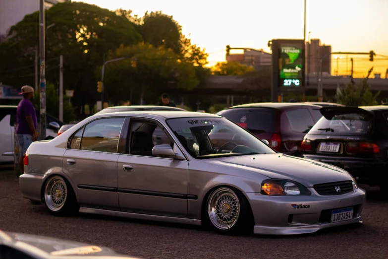
M299 86L303 82L303 50L297 47L280 47L279 78L282 86Z

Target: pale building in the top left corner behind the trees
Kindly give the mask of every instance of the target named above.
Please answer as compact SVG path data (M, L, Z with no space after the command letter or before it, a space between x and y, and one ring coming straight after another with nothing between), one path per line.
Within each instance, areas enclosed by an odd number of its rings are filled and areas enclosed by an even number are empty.
M71 0L45 0L45 8L65 1ZM26 14L39 11L39 8L39 0L0 0L0 39L8 34L12 25L23 20Z

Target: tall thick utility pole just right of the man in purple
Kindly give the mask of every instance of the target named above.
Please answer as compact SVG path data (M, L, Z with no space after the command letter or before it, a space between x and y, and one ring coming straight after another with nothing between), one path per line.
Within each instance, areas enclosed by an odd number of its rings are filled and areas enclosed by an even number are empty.
M45 0L40 0L39 11L39 34L40 34L40 116L41 129L40 139L46 138L46 64L45 64Z

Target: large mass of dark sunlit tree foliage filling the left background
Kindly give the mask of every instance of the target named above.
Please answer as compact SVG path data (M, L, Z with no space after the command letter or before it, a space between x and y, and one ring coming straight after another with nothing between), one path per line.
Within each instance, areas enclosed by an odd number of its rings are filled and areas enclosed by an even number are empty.
M104 83L113 102L128 97L129 84L135 86L133 96L152 102L152 95L166 85L192 89L204 84L209 75L209 69L203 67L208 57L205 50L192 44L172 16L162 12L138 17L131 10L64 2L45 11L45 23L55 24L46 35L46 79L58 88L59 56L63 55L64 89L74 90L71 100L76 107L94 106L99 100L101 66L116 57L138 61L136 69L129 60L107 65ZM0 82L34 85L36 46L39 11L12 26L7 39L0 42L0 59L7 61L0 63Z

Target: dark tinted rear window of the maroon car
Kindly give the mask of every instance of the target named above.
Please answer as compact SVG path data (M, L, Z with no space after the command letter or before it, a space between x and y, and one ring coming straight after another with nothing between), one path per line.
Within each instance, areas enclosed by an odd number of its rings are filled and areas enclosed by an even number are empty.
M274 132L275 130L275 109L235 108L224 110L219 114L252 133Z

